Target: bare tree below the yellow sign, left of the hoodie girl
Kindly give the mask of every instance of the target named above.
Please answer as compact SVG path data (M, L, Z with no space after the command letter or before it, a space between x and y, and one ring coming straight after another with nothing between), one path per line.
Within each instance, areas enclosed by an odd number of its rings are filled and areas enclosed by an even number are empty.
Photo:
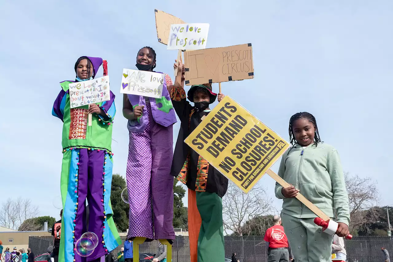
M222 216L224 220L224 230L231 230L242 236L249 234L256 216L263 216L274 211L272 199L267 196L266 189L255 185L248 194L238 188L234 183L228 184L228 190L222 198ZM259 220L255 220L259 221Z

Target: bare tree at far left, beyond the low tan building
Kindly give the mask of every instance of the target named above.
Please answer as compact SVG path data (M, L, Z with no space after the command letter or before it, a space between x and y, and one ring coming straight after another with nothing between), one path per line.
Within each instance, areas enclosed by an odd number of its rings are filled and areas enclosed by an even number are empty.
M39 214L37 206L31 200L18 197L16 200L8 198L0 208L0 225L17 230L25 220L34 218Z

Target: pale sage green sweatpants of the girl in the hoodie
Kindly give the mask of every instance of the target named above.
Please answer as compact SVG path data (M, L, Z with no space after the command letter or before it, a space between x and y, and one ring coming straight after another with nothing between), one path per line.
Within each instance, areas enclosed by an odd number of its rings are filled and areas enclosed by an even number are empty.
M295 218L281 213L286 237L296 262L331 262L333 236L322 232L314 218Z

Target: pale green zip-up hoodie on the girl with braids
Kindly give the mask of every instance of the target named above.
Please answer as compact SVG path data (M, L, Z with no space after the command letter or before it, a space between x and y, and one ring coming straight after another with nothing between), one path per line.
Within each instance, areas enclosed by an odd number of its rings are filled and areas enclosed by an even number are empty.
M304 150L304 151L303 151ZM303 151L303 155L302 155ZM330 218L349 225L348 194L337 150L325 143L300 145L284 153L278 175L300 190ZM296 218L315 218L316 215L295 197L285 198L283 187L275 184L275 196L284 199L284 214ZM334 216L336 211L337 217Z

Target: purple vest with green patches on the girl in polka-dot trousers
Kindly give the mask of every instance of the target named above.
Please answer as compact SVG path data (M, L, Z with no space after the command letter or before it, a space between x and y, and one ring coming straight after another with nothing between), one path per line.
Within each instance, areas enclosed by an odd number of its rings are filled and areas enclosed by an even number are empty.
M163 74L161 72L157 72ZM139 105L139 97L137 95L127 94L128 100L130 101L132 107ZM154 121L157 124L168 127L169 125L173 125L177 122L176 113L174 112L171 97L169 96L169 92L167 90L167 83L164 81L162 87L162 97L161 98L152 98L149 97L151 112ZM147 106L146 101L143 98L142 104L143 107L142 116L139 120L128 120L127 128L131 132L142 133L145 130L147 122L149 122L149 117L147 115Z

